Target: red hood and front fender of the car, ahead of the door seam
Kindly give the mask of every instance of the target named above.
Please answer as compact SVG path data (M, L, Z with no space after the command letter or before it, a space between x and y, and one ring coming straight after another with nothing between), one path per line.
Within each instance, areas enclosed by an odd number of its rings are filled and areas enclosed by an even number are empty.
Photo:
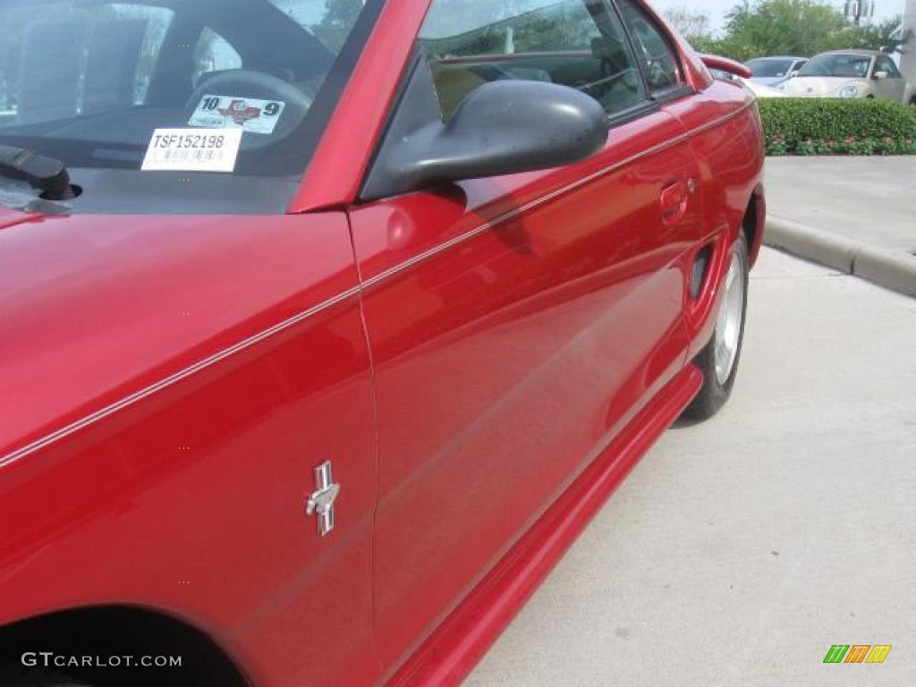
M0 624L141 605L208 631L256 684L376 679L344 214L49 218L0 229L0 255ZM329 458L330 548L302 513Z

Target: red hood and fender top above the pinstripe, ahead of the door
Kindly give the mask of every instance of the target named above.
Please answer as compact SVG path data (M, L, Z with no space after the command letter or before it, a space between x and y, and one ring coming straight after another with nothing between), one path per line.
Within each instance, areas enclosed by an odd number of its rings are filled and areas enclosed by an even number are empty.
M357 286L339 215L49 217L0 250L3 455Z

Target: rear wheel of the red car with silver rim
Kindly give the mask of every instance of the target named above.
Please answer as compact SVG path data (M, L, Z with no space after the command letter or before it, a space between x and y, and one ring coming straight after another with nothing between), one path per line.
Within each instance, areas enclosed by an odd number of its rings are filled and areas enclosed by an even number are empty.
M713 340L693 361L703 373L703 387L684 410L683 417L688 420L712 418L725 406L735 386L747 315L748 262L747 239L742 234L732 247Z

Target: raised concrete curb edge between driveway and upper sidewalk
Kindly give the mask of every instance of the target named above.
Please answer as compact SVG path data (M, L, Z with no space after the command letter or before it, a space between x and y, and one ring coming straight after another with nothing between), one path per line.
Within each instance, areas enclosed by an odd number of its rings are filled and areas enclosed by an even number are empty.
M916 256L782 217L769 217L767 245L916 298Z

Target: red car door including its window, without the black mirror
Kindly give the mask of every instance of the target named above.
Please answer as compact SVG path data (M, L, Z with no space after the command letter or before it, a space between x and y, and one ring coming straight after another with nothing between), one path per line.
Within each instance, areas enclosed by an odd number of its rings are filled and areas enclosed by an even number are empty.
M443 115L488 80L560 82L615 118L605 150L351 213L376 371L374 603L389 668L685 362L684 256L701 229L682 125L653 101L609 5L536 5L506 19L502 6L433 2L421 42Z

